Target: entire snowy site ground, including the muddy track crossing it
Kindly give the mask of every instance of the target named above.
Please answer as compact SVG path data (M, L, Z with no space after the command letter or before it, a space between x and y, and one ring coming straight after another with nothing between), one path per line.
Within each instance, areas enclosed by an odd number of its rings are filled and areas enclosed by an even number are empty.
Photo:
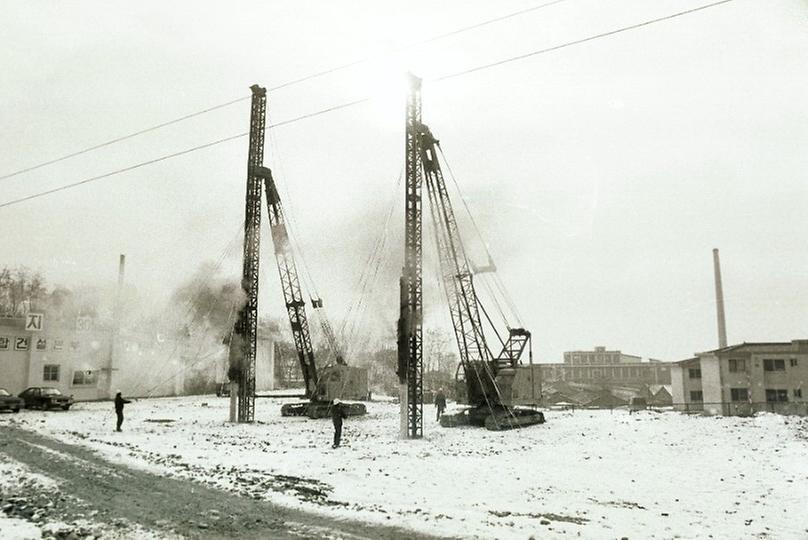
M808 536L805 418L547 411L546 424L493 432L440 428L426 406L424 438L401 441L398 405L381 401L346 420L343 446L332 449L330 420L283 418L289 401L258 400L255 423L231 424L227 399L139 400L127 405L122 433L109 402L2 414L0 530L58 537L53 527L66 523L77 535L156 538ZM40 495L21 502L23 482Z

